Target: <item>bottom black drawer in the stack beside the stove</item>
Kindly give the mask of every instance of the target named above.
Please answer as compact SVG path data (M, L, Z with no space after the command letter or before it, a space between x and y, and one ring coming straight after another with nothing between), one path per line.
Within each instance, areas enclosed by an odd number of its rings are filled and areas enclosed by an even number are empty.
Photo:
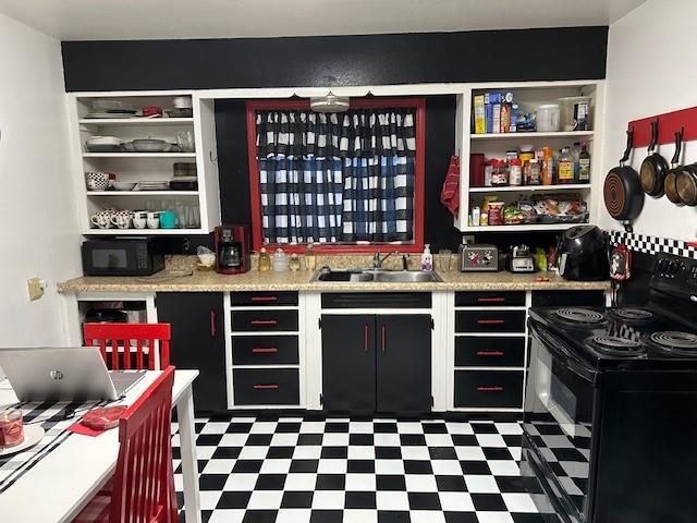
M514 408L523 403L523 373L455 370L456 408Z

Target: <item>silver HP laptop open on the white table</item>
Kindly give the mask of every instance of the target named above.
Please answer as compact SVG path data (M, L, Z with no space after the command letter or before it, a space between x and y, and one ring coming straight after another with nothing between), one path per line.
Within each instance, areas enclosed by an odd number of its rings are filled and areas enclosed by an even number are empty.
M145 373L109 372L96 346L0 349L20 401L118 400Z

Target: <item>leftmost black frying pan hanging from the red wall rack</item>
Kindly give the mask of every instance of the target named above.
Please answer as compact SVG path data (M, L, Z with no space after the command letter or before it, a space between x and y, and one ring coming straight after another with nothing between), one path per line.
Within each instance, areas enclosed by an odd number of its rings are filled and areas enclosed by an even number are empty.
M624 165L632 153L633 142L634 130L628 130L627 146L620 159L620 166L608 172L602 188L608 212L615 220L623 222L634 220L644 208L644 191L639 174L631 166Z

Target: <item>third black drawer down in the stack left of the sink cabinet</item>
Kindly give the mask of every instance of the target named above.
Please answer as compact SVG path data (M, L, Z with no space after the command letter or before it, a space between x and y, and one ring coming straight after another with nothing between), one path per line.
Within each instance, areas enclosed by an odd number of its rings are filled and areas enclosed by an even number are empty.
M232 338L234 365L293 365L297 336L236 336Z

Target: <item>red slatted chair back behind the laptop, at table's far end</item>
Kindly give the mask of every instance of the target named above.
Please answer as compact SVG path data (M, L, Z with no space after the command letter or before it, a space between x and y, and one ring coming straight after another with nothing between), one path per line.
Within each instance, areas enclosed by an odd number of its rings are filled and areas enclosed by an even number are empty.
M112 370L156 370L158 345L159 368L166 368L170 364L170 324L85 324L83 331L85 344L99 346L105 363ZM132 341L135 346L131 344ZM120 346L123 348L121 353Z

